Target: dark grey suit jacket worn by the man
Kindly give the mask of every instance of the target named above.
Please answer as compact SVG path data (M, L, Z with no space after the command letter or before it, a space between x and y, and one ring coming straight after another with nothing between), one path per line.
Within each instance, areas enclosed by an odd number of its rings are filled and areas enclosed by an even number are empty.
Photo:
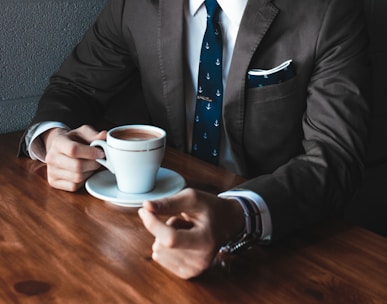
M184 150L183 0L111 0L52 78L32 123L91 123L117 92ZM368 124L367 31L358 0L249 0L224 96L242 188L269 206L273 239L340 210L359 185ZM292 59L296 76L246 89ZM221 178L221 177L219 177Z

